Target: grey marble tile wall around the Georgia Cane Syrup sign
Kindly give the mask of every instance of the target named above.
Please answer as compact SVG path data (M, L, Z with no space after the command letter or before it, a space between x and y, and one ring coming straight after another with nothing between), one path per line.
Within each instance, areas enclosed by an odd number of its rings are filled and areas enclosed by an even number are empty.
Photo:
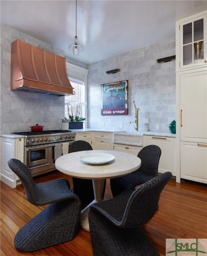
M175 38L108 59L88 64L88 127L135 130L135 100L139 112L139 130L170 132L175 119L175 60L158 63L158 58L175 54ZM115 74L107 70L120 68ZM129 80L129 115L101 116L101 84ZM156 129L156 124L159 129Z

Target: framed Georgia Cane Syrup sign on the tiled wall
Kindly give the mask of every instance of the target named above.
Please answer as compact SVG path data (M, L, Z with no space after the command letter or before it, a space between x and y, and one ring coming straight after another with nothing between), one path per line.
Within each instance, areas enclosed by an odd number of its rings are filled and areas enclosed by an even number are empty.
M128 115L128 80L101 85L101 115Z

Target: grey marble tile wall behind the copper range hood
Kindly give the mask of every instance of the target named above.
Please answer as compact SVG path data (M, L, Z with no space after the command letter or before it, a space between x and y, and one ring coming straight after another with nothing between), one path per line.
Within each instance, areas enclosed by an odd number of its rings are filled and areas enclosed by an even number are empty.
M64 96L55 97L10 90L11 43L16 39L65 57L64 51L45 42L1 24L1 126L0 133L30 131L30 126L40 124L44 130L61 128L64 117ZM85 67L84 63L67 58L68 62Z

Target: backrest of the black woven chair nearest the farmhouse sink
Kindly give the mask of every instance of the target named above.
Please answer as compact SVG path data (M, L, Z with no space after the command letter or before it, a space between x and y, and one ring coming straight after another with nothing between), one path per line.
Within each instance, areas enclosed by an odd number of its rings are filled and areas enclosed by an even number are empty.
M156 145L149 145L140 150L137 155L141 161L141 167L138 172L145 175L156 177L161 156L161 149Z

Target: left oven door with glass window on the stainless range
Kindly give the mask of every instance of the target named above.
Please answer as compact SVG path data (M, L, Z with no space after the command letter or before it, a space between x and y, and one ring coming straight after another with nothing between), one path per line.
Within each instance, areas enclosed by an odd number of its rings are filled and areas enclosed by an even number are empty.
M44 146L31 146L26 148L28 167L48 164L48 144Z

